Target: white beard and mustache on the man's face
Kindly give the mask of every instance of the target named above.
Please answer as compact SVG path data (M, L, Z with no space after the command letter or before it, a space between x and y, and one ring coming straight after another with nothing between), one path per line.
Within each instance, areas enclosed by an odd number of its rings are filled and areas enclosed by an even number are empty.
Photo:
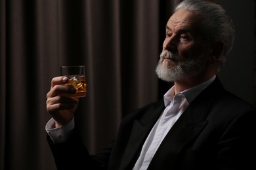
M172 62L173 66L170 66L169 62ZM205 69L206 62L207 58L204 54L194 58L181 59L178 54L172 54L165 50L160 54L156 74L161 80L174 82L186 76L198 75Z

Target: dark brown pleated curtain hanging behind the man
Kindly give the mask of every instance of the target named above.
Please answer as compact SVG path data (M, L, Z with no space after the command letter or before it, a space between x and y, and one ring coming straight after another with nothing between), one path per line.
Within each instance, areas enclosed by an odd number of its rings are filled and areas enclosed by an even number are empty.
M85 65L75 114L91 153L129 111L169 88L154 69L179 1L0 0L0 169L56 169L46 141L46 94L60 65Z

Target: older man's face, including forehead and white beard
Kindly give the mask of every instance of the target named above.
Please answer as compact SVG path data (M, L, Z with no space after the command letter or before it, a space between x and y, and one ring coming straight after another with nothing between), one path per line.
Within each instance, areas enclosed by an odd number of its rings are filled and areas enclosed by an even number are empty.
M171 82L195 76L205 69L208 51L194 12L177 10L166 25L163 51L156 68L158 76Z

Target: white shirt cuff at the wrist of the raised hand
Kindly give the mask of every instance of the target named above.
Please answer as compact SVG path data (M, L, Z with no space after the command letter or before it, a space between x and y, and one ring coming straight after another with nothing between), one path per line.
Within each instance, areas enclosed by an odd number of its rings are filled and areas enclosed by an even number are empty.
M64 143L68 140L72 131L75 127L75 120L74 116L72 120L66 124L65 126L55 128L55 120L51 118L45 126L45 130L47 131L48 135L51 137L53 143Z

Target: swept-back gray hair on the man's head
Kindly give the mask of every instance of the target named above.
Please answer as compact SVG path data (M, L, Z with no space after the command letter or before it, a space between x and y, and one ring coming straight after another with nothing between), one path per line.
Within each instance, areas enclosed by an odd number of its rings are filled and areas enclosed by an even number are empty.
M175 12L179 9L195 12L202 19L200 23L203 24L203 32L207 35L209 44L223 43L223 56L219 59L218 69L223 67L235 37L234 24L226 10L210 0L184 0L175 8Z

